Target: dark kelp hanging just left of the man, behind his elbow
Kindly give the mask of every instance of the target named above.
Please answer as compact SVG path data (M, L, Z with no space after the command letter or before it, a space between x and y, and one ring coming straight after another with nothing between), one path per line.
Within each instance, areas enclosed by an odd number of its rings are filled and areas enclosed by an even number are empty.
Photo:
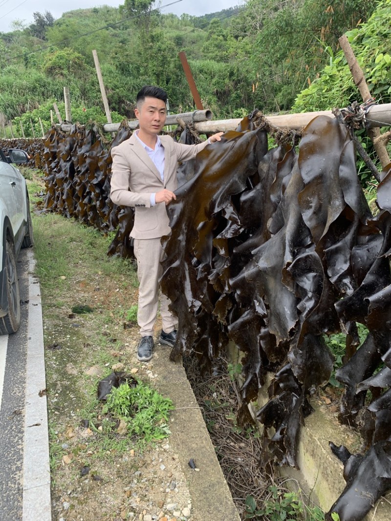
M132 256L129 233L133 209L121 209L109 198L111 148L130 135L126 123L119 128L112 143L107 143L93 126L72 125L69 133L52 127L46 135L43 154L44 208L101 231L118 228L108 254L123 257Z

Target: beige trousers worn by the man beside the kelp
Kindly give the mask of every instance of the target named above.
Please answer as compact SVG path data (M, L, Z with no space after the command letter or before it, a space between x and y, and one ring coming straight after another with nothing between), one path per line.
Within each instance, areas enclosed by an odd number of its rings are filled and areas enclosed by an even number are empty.
M137 277L139 279L139 307L137 322L142 337L153 336L160 293L160 314L162 328L166 333L177 329L178 319L169 309L170 301L161 293L159 279L163 268L161 262L165 257L164 250L157 239L135 239L135 255L137 259Z

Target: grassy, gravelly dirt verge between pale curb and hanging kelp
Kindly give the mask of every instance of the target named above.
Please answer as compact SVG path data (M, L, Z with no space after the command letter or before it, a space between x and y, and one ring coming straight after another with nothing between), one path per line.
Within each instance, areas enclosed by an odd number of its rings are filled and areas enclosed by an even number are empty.
M41 297L53 520L239 519L182 365L169 362L159 344L151 362L137 361L138 330L126 320L137 303L133 269L112 266L97 243L89 246L93 237L79 241L75 221L34 216L34 226L36 257L46 255ZM92 311L79 314L85 306ZM155 338L159 333L156 324ZM173 400L171 436L140 449L120 431L105 432L97 384L113 370ZM188 465L191 457L200 472Z

